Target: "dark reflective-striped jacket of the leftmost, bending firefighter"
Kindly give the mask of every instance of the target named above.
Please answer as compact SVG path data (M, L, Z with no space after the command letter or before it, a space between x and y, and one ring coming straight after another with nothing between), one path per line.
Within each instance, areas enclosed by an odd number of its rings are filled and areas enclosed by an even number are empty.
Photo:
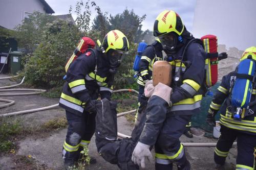
M97 72L95 71L97 64ZM67 82L59 100L59 106L81 115L86 103L99 98L111 98L113 80L109 72L109 61L99 50L88 50L71 64L67 72Z

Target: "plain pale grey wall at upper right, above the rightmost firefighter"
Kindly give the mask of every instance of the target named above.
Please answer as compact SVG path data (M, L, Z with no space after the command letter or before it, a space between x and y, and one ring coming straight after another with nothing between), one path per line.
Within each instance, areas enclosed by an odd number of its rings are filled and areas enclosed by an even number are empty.
M256 46L256 0L197 0L193 35L206 34L239 50Z

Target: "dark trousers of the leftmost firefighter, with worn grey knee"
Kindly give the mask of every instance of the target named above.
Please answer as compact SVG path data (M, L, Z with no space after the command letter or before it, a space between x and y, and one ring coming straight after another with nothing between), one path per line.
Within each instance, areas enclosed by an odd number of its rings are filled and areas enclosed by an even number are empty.
M66 165L78 161L80 151L87 147L95 131L96 113L83 112L81 116L66 110L68 132L63 144L62 158Z

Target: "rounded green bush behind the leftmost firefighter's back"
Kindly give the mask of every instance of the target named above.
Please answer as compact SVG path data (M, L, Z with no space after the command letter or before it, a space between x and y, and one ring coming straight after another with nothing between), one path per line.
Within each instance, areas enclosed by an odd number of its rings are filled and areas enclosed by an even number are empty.
M76 26L66 21L47 23L40 45L25 60L26 82L38 87L62 86L66 75L65 64L71 57L81 34Z

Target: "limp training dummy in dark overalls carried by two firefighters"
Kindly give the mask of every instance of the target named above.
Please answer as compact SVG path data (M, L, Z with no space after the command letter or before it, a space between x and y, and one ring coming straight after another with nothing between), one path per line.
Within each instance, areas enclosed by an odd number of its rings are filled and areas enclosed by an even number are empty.
M167 82L170 83L171 66L166 64L166 61L159 62L160 66L163 68L160 70L168 71L165 71L165 74L159 74L158 72L158 74L155 75L155 80L163 80L157 77L167 75L167 77L169 77L169 81ZM161 62L164 62L164 64ZM146 83L145 91L146 96L150 99L148 100L146 109L139 115L140 117L137 118L136 125L132 132L132 138L117 139L116 104L107 99L96 102L95 142L98 152L106 161L117 164L120 169L139 169L139 166L136 164L145 167L145 155L149 159L152 158L152 155L149 150L150 147L144 150L144 145L140 141L143 142L144 140L151 139L153 142L152 146L155 144L165 120L165 114L170 106L169 101L172 88L169 86L163 83L158 83L156 86L153 86L153 81L151 80ZM153 125L155 127L154 130L152 129ZM140 156L134 157L133 161L136 161L135 164L132 161L132 154L136 144L137 148L141 149L142 159L138 162L139 159L137 159L137 157Z

